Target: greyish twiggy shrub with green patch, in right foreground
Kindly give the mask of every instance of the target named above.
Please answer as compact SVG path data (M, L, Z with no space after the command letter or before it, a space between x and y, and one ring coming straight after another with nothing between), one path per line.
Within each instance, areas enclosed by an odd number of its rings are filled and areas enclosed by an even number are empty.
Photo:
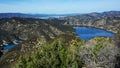
M103 40L96 39L94 46L84 46L79 51L87 68L114 68L116 56L119 54L118 48Z

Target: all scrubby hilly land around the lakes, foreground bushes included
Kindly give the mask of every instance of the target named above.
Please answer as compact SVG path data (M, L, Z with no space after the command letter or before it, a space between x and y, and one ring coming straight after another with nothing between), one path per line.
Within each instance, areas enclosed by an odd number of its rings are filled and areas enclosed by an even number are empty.
M95 37L84 41L73 26L102 28L115 39ZM0 45L23 43L0 57L0 68L119 68L120 12L81 14L62 18L1 18ZM2 49L0 47L0 49ZM0 50L0 53L2 50Z

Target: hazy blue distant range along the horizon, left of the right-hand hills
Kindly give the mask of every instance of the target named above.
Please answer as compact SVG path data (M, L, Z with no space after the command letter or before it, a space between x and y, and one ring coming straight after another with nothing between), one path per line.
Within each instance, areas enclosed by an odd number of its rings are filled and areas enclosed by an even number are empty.
M25 14L25 13L0 13L0 18L12 18L12 17L22 17L22 18L43 18L43 17L63 17L63 16L73 16L77 14Z

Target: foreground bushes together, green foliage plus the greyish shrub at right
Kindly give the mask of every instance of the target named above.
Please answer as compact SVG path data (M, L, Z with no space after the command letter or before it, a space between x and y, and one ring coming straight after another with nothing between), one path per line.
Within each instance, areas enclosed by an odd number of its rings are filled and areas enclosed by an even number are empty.
M89 45L91 42L94 45ZM118 48L106 38L95 38L84 42L63 35L52 43L43 45L31 55L21 56L15 68L114 68Z

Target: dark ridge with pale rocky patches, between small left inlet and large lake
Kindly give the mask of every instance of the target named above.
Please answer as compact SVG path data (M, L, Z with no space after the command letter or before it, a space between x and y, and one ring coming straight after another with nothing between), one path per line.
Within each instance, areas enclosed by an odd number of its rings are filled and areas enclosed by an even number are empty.
M59 34L74 31L68 26L58 24L61 20L43 20L32 18L0 19L0 41L9 43L16 39L28 40L34 36L50 40Z

